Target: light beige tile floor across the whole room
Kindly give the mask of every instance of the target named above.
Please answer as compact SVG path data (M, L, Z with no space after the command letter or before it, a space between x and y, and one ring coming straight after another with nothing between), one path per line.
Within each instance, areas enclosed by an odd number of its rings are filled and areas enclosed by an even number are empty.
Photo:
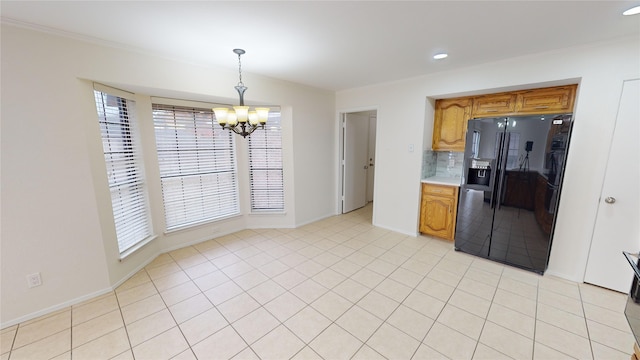
M625 294L376 228L371 210L163 254L3 329L0 359L629 359Z

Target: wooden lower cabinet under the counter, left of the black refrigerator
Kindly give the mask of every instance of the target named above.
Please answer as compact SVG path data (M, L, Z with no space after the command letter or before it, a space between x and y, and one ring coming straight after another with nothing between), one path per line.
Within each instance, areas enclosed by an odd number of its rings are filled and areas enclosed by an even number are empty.
M453 240L456 230L458 187L422 184L420 232Z

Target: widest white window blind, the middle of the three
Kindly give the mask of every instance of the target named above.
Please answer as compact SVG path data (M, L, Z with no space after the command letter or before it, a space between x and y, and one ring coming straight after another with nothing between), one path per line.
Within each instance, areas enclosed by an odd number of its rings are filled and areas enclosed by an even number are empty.
M153 104L153 123L167 230L239 214L233 134L211 109Z

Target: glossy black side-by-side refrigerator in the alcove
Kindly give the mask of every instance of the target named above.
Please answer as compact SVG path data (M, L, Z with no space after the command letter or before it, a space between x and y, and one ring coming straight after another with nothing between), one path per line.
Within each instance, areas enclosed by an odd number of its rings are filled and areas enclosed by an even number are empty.
M455 249L543 274L571 114L468 122Z

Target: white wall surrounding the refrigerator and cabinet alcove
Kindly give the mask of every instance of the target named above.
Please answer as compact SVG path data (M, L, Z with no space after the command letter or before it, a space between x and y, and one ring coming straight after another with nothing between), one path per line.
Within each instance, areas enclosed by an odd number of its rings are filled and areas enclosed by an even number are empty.
M378 109L374 225L417 233L421 153L407 145L431 147L433 99L579 83L548 273L582 281L622 82L638 64L633 37L339 92L338 111Z

